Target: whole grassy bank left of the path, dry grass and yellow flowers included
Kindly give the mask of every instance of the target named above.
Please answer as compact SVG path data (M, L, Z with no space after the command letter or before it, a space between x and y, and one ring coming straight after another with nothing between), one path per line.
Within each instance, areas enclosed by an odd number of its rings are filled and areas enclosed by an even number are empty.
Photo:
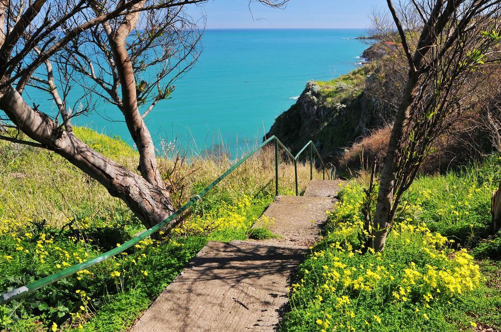
M87 128L77 127L75 132L91 147L136 169L138 154L124 141ZM146 239L0 306L0 329L128 330L208 240L247 238L273 200L274 158L272 149L249 158L190 209L168 240ZM173 194L179 204L231 162L223 156L187 160L178 162L180 168L172 172L174 161L159 158L164 177L182 188ZM0 141L0 165L0 292L94 257L144 229L124 203L57 154ZM281 163L281 193L293 192L293 170L292 163ZM299 165L301 190L309 171L309 166Z

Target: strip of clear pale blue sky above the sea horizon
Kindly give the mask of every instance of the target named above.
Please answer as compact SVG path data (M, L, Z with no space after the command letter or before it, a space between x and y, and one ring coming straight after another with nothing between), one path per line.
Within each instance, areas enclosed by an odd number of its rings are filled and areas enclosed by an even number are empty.
M207 28L366 28L371 10L385 5L385 0L290 0L283 10L253 2L249 11L247 0L209 0L189 12L205 13Z

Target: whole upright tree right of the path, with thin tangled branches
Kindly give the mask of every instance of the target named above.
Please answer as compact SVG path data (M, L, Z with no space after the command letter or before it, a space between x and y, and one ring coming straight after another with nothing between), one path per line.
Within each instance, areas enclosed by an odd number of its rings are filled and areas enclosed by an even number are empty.
M402 194L431 143L475 107L473 91L498 65L501 0L387 0L390 36L406 70L381 171L371 245L383 250ZM384 20L379 20L384 22ZM383 24L383 23L381 23ZM489 31L489 32L487 32Z

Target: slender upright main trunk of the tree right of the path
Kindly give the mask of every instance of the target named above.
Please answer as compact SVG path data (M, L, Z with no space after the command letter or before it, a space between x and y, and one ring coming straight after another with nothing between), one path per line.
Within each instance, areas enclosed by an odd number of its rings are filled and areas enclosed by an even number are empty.
M416 95L418 79L419 75L417 73L409 75L409 79L407 80L402 94L402 101L391 130L388 151L386 152L381 172L376 213L372 225L372 247L376 251L382 251L384 249L389 226L393 221L391 210L394 203L393 189L395 181L395 163L397 162L397 152L400 147L400 141L402 140L403 127L409 117L410 107Z

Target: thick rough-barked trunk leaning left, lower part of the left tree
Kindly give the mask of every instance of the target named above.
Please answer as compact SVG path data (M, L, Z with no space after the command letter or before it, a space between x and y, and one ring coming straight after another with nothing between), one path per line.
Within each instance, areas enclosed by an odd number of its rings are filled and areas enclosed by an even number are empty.
M166 190L91 149L72 132L33 110L11 85L0 91L0 108L32 139L60 154L104 185L112 196L122 199L147 228L174 212Z

